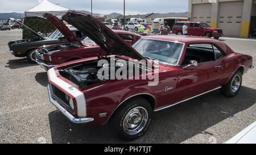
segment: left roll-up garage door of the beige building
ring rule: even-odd
[[[192,21],[207,22],[210,24],[210,11],[212,10],[211,3],[194,4],[192,6]]]

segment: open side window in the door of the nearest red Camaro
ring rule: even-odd
[[[198,63],[215,61],[212,44],[188,45],[182,65],[188,65],[191,60],[196,60]]]

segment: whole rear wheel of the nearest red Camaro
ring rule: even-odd
[[[220,89],[221,94],[227,97],[234,97],[238,94],[242,86],[242,73],[240,70],[237,70],[236,73],[229,79],[226,85],[222,86]]]

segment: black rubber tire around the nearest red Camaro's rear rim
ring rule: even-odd
[[[234,91],[234,89],[232,89],[232,86],[234,85],[234,80],[235,80],[234,78],[237,78],[237,77],[240,78],[240,84],[239,84],[238,89],[236,89],[236,91]],[[220,89],[221,94],[225,95],[226,97],[235,97],[241,89],[242,79],[243,79],[243,76],[242,76],[241,71],[237,70],[237,72],[234,73],[234,75],[229,79],[228,83],[226,83],[224,86],[221,87],[221,89]]]

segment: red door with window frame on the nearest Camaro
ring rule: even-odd
[[[191,44],[185,51],[183,62],[178,71],[178,99],[184,100],[220,86],[222,68],[216,60],[212,44]],[[197,66],[189,66],[196,60]]]

